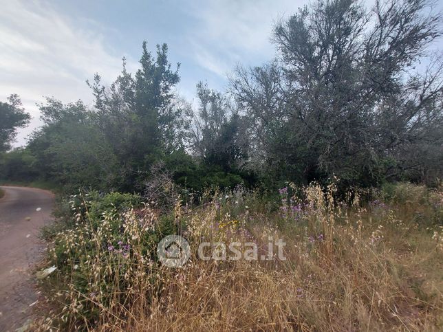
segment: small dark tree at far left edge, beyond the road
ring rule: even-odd
[[[30,118],[17,94],[9,96],[8,102],[0,102],[0,153],[11,148],[10,144],[17,136],[17,128],[26,126]]]

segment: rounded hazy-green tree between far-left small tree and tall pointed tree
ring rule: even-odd
[[[40,111],[44,124],[28,145],[39,177],[71,192],[81,187],[119,188],[116,156],[83,102],[63,104],[47,98]]]

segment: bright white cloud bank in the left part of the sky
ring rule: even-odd
[[[0,100],[18,93],[32,115],[30,126],[19,133],[19,146],[40,124],[36,102],[43,96],[90,102],[85,80],[98,72],[109,82],[123,56],[105,45],[98,23],[72,21],[44,1],[2,1],[0,49]]]

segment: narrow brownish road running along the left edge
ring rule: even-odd
[[[42,225],[51,221],[54,195],[36,188],[1,187],[0,199],[0,331],[14,331],[31,318],[37,300],[30,270],[45,245]]]

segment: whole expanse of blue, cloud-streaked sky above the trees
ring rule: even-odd
[[[122,68],[135,72],[142,41],[155,51],[169,46],[180,63],[177,92],[189,101],[207,81],[224,90],[236,65],[272,60],[276,21],[307,0],[0,0],[0,100],[21,96],[32,115],[14,146],[41,125],[37,103],[45,96],[92,104],[85,81],[95,73],[113,81]],[[441,5],[441,3],[440,3]]]

